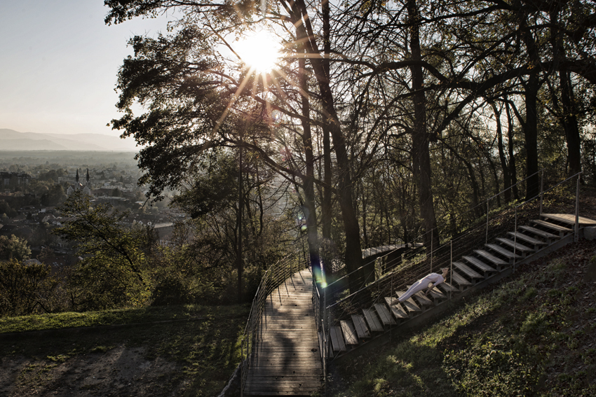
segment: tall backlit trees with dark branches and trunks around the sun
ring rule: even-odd
[[[145,145],[150,194],[180,188],[216,149],[243,148],[297,188],[311,261],[320,240],[337,244],[351,288],[372,277],[363,240],[421,231],[436,246],[440,220],[521,176],[533,197],[543,165],[581,170],[596,83],[591,1],[104,4],[108,24],[180,15],[167,34],[131,39],[118,73],[123,116],[112,125]],[[266,73],[234,50],[255,30],[283,45]],[[210,191],[196,190],[197,202]]]

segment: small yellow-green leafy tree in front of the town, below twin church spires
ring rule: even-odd
[[[147,252],[151,230],[121,225],[128,213],[109,204],[91,207],[89,197],[74,193],[61,207],[72,218],[54,230],[76,244],[81,260],[68,274],[75,309],[107,309],[144,305],[149,298]]]

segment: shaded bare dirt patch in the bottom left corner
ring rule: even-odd
[[[144,353],[122,344],[71,358],[3,357],[0,396],[177,396],[180,364]]]

